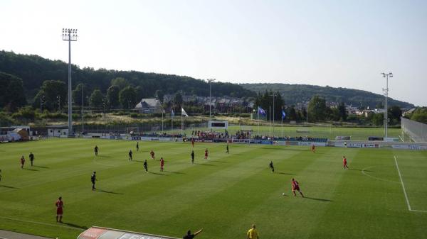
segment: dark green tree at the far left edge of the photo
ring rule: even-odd
[[[0,72],[0,108],[14,111],[26,104],[22,79]]]

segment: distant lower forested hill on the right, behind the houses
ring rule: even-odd
[[[310,101],[312,96],[319,95],[328,102],[344,102],[352,106],[369,106],[374,108],[384,105],[384,96],[359,89],[320,87],[307,84],[240,84],[242,87],[263,93],[265,90],[279,91],[285,104],[296,104],[298,102]],[[397,101],[389,98],[389,106],[400,106],[401,108],[413,108],[413,104]]]

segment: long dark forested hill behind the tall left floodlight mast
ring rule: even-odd
[[[23,80],[26,98],[31,101],[45,80],[68,82],[68,65],[59,60],[48,60],[38,55],[21,55],[14,52],[0,51],[0,72],[11,74]],[[201,79],[181,77],[173,74],[156,74],[136,71],[94,70],[73,65],[73,89],[80,83],[89,91],[100,89],[105,92],[112,79],[123,77],[137,87],[139,98],[153,97],[157,90],[163,94],[184,94],[209,96],[209,84]],[[212,91],[215,96],[255,96],[253,91],[244,89],[238,84],[214,82]],[[18,93],[18,92],[16,92]]]

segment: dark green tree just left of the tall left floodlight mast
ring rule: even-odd
[[[43,109],[53,111],[54,109],[61,108],[67,103],[67,84],[59,80],[46,80],[40,87],[40,90],[34,97],[34,108],[41,105]]]

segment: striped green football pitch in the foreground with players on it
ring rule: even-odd
[[[61,239],[76,238],[90,226],[176,238],[204,228],[197,238],[237,239],[246,238],[256,223],[260,238],[270,239],[427,238],[427,152],[318,147],[312,153],[297,146],[231,145],[227,155],[224,144],[196,143],[191,165],[189,143],[142,142],[129,162],[127,152],[135,144],[0,144],[0,228]],[[209,160],[203,159],[205,148]],[[151,149],[165,158],[165,172],[151,159],[149,173],[143,171]],[[30,151],[36,155],[33,167]],[[349,170],[342,169],[343,155]],[[93,171],[97,191],[91,191]],[[292,177],[306,198],[292,196]],[[65,205],[62,224],[55,221],[58,196]]]

